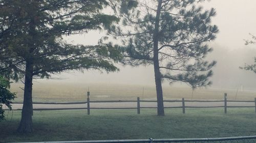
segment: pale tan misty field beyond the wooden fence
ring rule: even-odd
[[[17,93],[15,101],[23,100],[23,84],[12,84],[11,90]],[[55,82],[34,82],[33,101],[44,102],[69,102],[84,101],[86,93],[90,88],[91,100],[128,100],[137,97],[140,99],[156,99],[154,86],[125,85],[125,84],[78,84],[78,83],[55,83]],[[143,90],[144,89],[144,90]],[[224,93],[228,99],[254,100],[256,91],[241,91],[228,89],[197,89],[192,96],[192,90],[184,87],[163,87],[164,99],[223,99]]]

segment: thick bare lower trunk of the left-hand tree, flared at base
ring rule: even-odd
[[[17,129],[17,131],[20,133],[31,133],[33,131],[32,77],[33,77],[32,63],[27,62],[26,73],[25,73],[25,89],[24,89],[24,101],[23,101],[23,108],[22,108],[22,120],[20,121],[19,127]]]

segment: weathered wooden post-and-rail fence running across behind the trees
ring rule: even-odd
[[[34,108],[33,110],[67,110],[67,109],[87,109],[88,115],[90,115],[90,110],[91,109],[137,109],[137,113],[140,114],[140,109],[141,108],[157,108],[157,107],[141,107],[142,102],[157,102],[156,100],[140,100],[139,97],[137,97],[137,100],[109,100],[109,101],[90,101],[89,98],[90,92],[88,92],[88,98],[86,102],[33,102],[33,104],[51,104],[51,105],[56,105],[56,104],[63,104],[63,105],[68,105],[68,104],[87,104],[87,107],[77,107],[77,108]],[[90,107],[90,103],[120,103],[120,102],[137,102],[137,107]],[[224,113],[227,113],[227,108],[255,108],[256,112],[256,98],[254,98],[254,101],[252,100],[227,100],[227,94],[224,94],[224,100],[185,100],[182,98],[181,100],[164,100],[163,102],[181,102],[182,106],[173,106],[173,107],[164,107],[164,108],[182,108],[182,113],[185,113],[186,108],[224,108]],[[186,106],[186,102],[223,102],[223,106]],[[253,106],[228,106],[227,102],[253,102]],[[22,102],[13,102],[12,104],[23,104]],[[13,110],[21,110],[21,109],[13,109]]]

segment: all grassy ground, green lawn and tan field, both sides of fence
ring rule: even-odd
[[[23,84],[12,84],[17,93],[15,101],[23,100]],[[122,84],[47,83],[33,84],[33,101],[72,102],[85,101],[90,88],[91,100],[136,100],[137,97],[155,100],[154,86]],[[143,90],[144,89],[144,90]],[[164,99],[223,99],[254,100],[255,91],[227,89],[197,89],[163,87]],[[0,122],[0,142],[60,141],[141,138],[195,138],[256,135],[254,108],[165,109],[165,117],[157,117],[156,109],[136,110],[61,110],[34,111],[34,133],[19,134],[16,128],[21,112],[6,112],[7,120]]]

